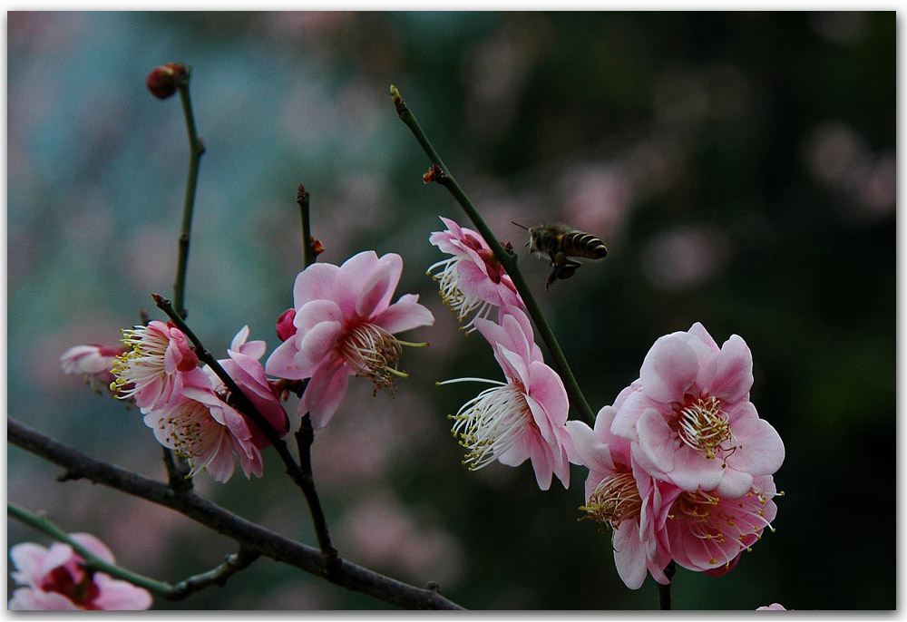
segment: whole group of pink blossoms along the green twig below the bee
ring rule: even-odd
[[[506,382],[455,414],[453,433],[479,469],[497,460],[532,459],[541,490],[556,474],[569,486],[568,462],[589,469],[585,518],[613,530],[620,578],[639,588],[647,572],[667,584],[671,560],[723,574],[771,529],[777,494],[772,475],[784,444],[749,401],[753,360],[742,338],[722,346],[700,325],[658,339],[639,379],[594,427],[567,421],[561,378],[542,360],[512,282],[476,232],[443,219],[430,241],[453,257],[442,268],[441,294],[458,317],[492,345]],[[498,322],[487,319],[498,308]],[[463,378],[441,384],[480,380]]]

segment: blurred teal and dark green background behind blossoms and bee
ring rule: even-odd
[[[500,377],[425,269],[439,215],[428,160],[397,120],[395,83],[495,233],[521,253],[595,410],[654,340],[702,322],[753,351],[752,400],[785,441],[775,533],[725,577],[679,569],[678,608],[895,607],[895,15],[888,13],[23,13],[7,15],[7,407],[84,452],[164,477],[141,414],[63,375],[71,345],[112,344],[170,294],[188,148],[177,97],[144,85],[192,67],[201,161],[186,305],[223,356],[249,325],[278,345],[302,264],[298,210],[339,264],[405,261],[432,327],[407,334],[391,398],[351,383],[317,433],[315,474],[341,554],[441,584],[464,607],[652,609],[571,489],[532,468],[469,472],[448,413]],[[562,220],[608,258],[544,291],[549,269],[510,224]],[[295,403],[288,404],[295,413]],[[572,413],[571,416],[577,416]],[[198,491],[310,544],[301,494],[265,477]],[[106,541],[122,565],[177,581],[233,544],[190,520],[8,450],[10,501]],[[849,514],[853,510],[854,514]],[[857,511],[859,510],[859,511]],[[866,510],[863,512],[863,510]],[[868,530],[868,531],[865,531]],[[8,544],[47,540],[14,521]],[[258,560],[180,603],[387,608]]]

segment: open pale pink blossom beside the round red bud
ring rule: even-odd
[[[403,272],[395,253],[378,258],[368,250],[340,267],[317,263],[296,277],[293,302],[297,332],[271,353],[265,364],[270,375],[310,378],[299,401],[299,414],[310,413],[312,425],[327,425],[346,394],[351,375],[363,375],[381,387],[394,388],[404,345],[394,334],[430,326],[434,316],[406,294],[393,305],[391,296]]]

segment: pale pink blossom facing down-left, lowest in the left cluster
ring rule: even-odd
[[[190,477],[207,470],[215,481],[233,476],[233,454],[246,477],[261,477],[261,452],[245,418],[220,399],[200,368],[183,372],[171,399],[145,414],[145,425],[168,447],[189,459]]]

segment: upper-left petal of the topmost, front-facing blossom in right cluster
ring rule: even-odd
[[[658,337],[649,350],[639,381],[649,399],[660,403],[682,402],[696,382],[699,365],[696,352],[678,333]]]

